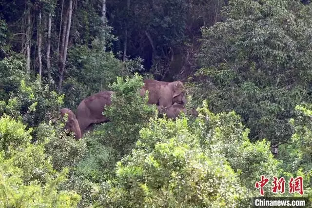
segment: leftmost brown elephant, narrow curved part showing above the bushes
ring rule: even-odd
[[[80,131],[80,126],[79,126],[78,120],[77,120],[75,114],[73,113],[73,111],[71,111],[68,108],[63,108],[60,110],[59,113],[60,113],[62,118],[65,116],[65,114],[68,115],[67,122],[66,122],[66,125],[64,128],[69,130],[69,131],[73,131],[75,133],[76,140],[80,139],[82,136],[81,131]]]

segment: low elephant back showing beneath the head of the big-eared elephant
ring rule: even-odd
[[[176,117],[179,116],[179,114],[183,111],[184,114],[191,114],[193,116],[197,116],[198,113],[195,109],[192,110],[187,110],[184,105],[182,104],[173,104],[169,107],[165,107],[163,105],[159,105],[158,107],[158,113],[159,114],[166,114],[167,118],[173,118],[175,119]]]

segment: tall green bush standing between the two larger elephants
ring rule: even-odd
[[[148,96],[140,96],[143,85],[142,77],[138,74],[132,78],[117,77],[117,82],[111,85],[115,93],[112,104],[104,113],[111,121],[105,126],[107,138],[111,140],[106,142],[117,148],[121,155],[131,151],[137,142],[139,130],[148,123],[150,117],[157,115],[156,107],[147,105]]]

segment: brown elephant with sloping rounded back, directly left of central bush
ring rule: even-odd
[[[102,91],[85,98],[77,107],[77,120],[80,126],[81,135],[90,129],[93,124],[108,122],[108,118],[103,116],[105,105],[111,105],[113,91]]]

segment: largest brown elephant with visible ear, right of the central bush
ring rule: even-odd
[[[157,80],[144,80],[144,86],[140,89],[140,96],[149,91],[148,104],[163,105],[169,107],[174,103],[186,104],[186,91],[183,83],[161,82]]]

